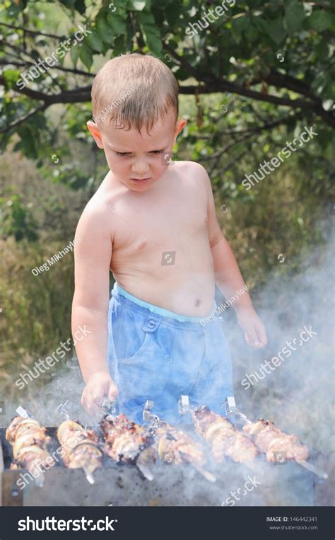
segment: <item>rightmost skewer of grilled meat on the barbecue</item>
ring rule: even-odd
[[[277,461],[276,452],[287,460],[305,461],[308,459],[308,449],[296,435],[288,435],[281,431],[271,420],[245,425],[247,433],[261,452],[266,454],[266,461]]]

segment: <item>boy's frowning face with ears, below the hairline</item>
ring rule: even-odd
[[[139,133],[136,128],[119,129],[112,122],[101,126],[90,120],[87,125],[98,147],[104,149],[115,178],[129,190],[141,192],[165,173],[177,134],[185,124],[186,120],[175,122],[175,113],[170,110],[150,134],[145,127]]]

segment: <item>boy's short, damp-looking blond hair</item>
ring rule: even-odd
[[[113,120],[118,127],[143,126],[150,132],[170,108],[178,115],[178,84],[172,71],[149,54],[122,54],[98,71],[92,86],[96,123]]]

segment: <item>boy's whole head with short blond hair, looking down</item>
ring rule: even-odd
[[[165,173],[186,123],[177,120],[178,85],[172,71],[149,55],[116,57],[95,76],[92,108],[95,121],[88,122],[88,129],[114,176],[131,190],[148,189]]]

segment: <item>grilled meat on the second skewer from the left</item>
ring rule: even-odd
[[[102,452],[98,436],[92,430],[85,430],[74,420],[65,420],[59,425],[57,438],[63,450],[63,461],[69,469],[83,468],[90,474],[102,463]]]

